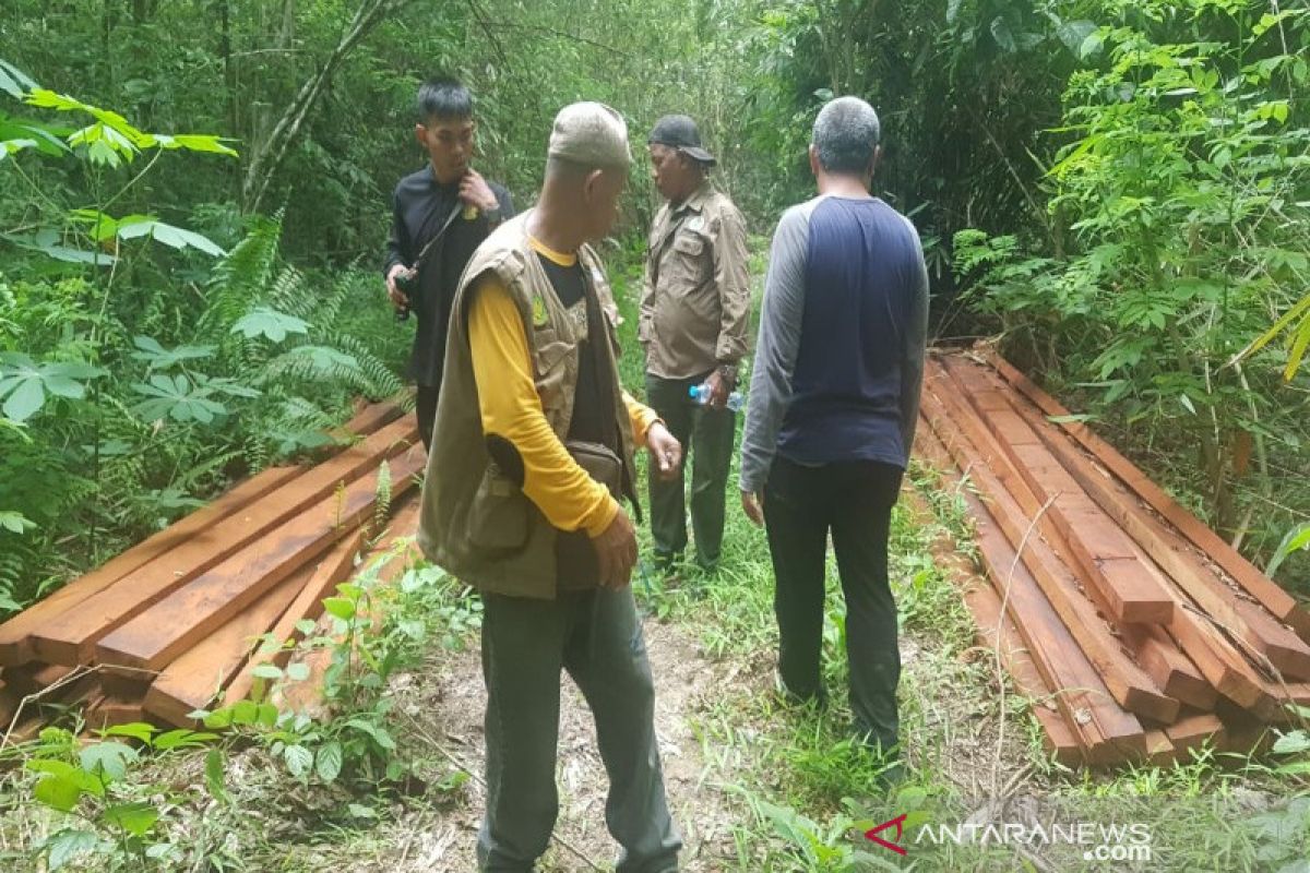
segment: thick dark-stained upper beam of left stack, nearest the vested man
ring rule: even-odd
[[[414,476],[426,462],[422,448],[393,458],[392,495],[400,496],[411,488]],[[379,472],[352,482],[345,495],[329,495],[178,588],[106,635],[96,648],[97,660],[141,670],[162,670],[265,592],[364,524],[376,509],[379,482]]]

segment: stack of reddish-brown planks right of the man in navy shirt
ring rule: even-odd
[[[979,640],[1064,763],[1246,753],[1310,705],[1310,613],[989,347],[930,355],[916,453],[975,522]]]

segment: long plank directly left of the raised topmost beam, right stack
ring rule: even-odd
[[[982,453],[993,446],[977,446],[968,442],[965,433],[971,428],[968,423],[962,420],[968,416],[968,410],[956,407],[956,414],[950,416],[937,397],[935,386],[924,393],[921,408],[938,433],[948,431],[952,424],[956,425],[950,440],[945,441],[947,449],[960,469],[969,470],[969,475],[988,500],[992,518],[1010,544],[1015,550],[1022,544],[1022,560],[1040,588],[1041,596],[1060,616],[1060,622],[1068,632],[1077,640],[1115,700],[1129,712],[1159,722],[1167,724],[1176,719],[1180,708],[1179,702],[1161,694],[1154,681],[1124,654],[1119,640],[1096,614],[1096,609],[1078,592],[1078,580],[1073,573],[1060,563],[1040,537],[1026,537],[1028,520],[1038,510],[1036,496],[1026,495],[1024,503],[1028,504],[1030,509],[1024,512],[1019,508],[1015,496],[992,475],[992,469],[1006,463],[1006,459],[1000,453],[994,453],[990,458],[993,467],[989,467],[982,459]],[[976,432],[981,437],[986,436],[981,429]],[[1022,487],[1018,483],[1015,486]]]

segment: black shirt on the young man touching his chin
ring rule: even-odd
[[[510,192],[495,182],[487,182],[500,203],[500,217],[514,216]],[[452,211],[458,215],[440,241],[424,258],[418,274],[418,292],[410,300],[417,322],[414,352],[410,356],[410,374],[426,387],[441,383],[441,365],[445,360],[445,338],[451,321],[451,304],[460,284],[460,275],[482,241],[491,232],[491,224],[481,212],[465,209],[460,200],[460,186],[440,185],[431,166],[410,173],[392,199],[392,236],[386,243],[383,275],[401,263],[414,266],[423,246],[445,225]]]

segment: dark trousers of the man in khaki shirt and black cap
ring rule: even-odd
[[[702,567],[713,568],[723,550],[723,501],[736,420],[728,410],[701,406],[688,397],[688,389],[703,381],[705,376],[665,380],[647,373],[646,402],[683,444],[684,469],[688,461],[692,463],[696,559]],[[655,465],[650,466],[651,538],[656,560],[672,561],[686,548],[685,488],[681,472],[677,479],[664,482]]]

